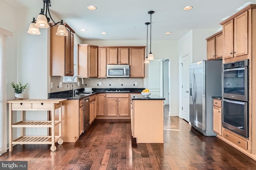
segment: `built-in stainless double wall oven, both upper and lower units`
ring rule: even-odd
[[[222,64],[222,126],[248,138],[248,60]]]

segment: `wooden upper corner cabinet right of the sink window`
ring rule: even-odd
[[[98,46],[78,44],[78,75],[83,78],[97,78]]]

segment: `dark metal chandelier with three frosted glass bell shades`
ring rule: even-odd
[[[43,0],[44,2],[44,9],[41,9],[40,14],[37,16],[36,20],[33,18],[33,21],[30,23],[27,33],[33,34],[33,35],[39,35],[39,29],[37,28],[48,28],[48,27],[54,27],[55,25],[59,24],[56,35],[59,36],[67,36],[66,27],[63,24],[63,20],[55,23],[54,20],[51,17],[49,6],[51,6],[51,0]],[[45,12],[45,14],[44,14]],[[47,16],[49,15],[49,17]],[[54,24],[49,24],[50,19],[54,22]]]

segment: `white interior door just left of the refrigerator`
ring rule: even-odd
[[[189,55],[182,57],[182,118],[189,121]]]

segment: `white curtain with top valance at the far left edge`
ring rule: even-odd
[[[0,154],[7,151],[6,145],[6,37],[12,33],[0,28]]]

